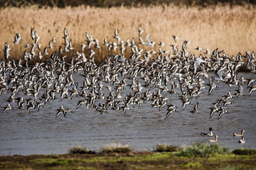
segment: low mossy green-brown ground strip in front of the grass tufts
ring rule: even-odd
[[[256,154],[178,157],[174,152],[0,156],[0,169],[255,169]]]

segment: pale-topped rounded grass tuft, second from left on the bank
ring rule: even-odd
[[[112,142],[110,145],[105,145],[100,149],[100,153],[109,154],[109,153],[130,153],[132,152],[132,147],[129,144],[115,143]]]

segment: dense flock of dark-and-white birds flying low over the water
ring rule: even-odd
[[[181,48],[176,45],[178,35],[173,36],[171,50],[162,50],[169,45],[161,41],[152,42],[150,34],[144,42],[144,30],[139,27],[138,32],[138,42],[134,38],[131,42],[122,40],[118,30],[115,30],[112,41],[106,37],[103,43],[85,33],[85,43],[80,44],[81,49],[74,52],[72,39],[65,28],[63,45],[57,47],[58,50],[53,47],[56,43],[54,37],[47,47],[42,48],[40,36],[31,28],[33,43],[24,46],[26,50],[18,60],[9,58],[11,48],[6,43],[4,60],[0,62],[0,96],[3,93],[11,95],[3,113],[13,109],[15,103],[16,108],[31,113],[39,111],[50,101],[79,98],[76,109],[95,108],[100,114],[107,113],[109,109],[127,113],[131,106],[139,108],[142,103],[150,102],[151,108],[158,108],[159,111],[166,109],[164,119],[168,119],[178,108],[171,103],[167,94],[178,96],[184,110],[192,100],[198,100],[203,89],[208,89],[210,95],[218,86],[216,81],[221,81],[238,89],[235,90],[236,94],[229,91],[213,103],[210,118],[218,113],[220,119],[228,113],[226,108],[232,104],[231,98],[245,95],[245,84],[249,89],[248,96],[256,89],[253,85],[255,79],[238,77],[240,68],[255,72],[254,52],[246,52],[245,55],[239,52],[237,56],[229,57],[218,48],[213,52],[208,49],[203,52],[204,49],[196,47],[201,54],[195,57],[187,50],[191,41],[184,40]],[[17,33],[13,43],[21,45],[21,39],[21,33]],[[103,47],[107,47],[109,53],[104,62],[97,64],[95,51]],[[74,52],[70,60],[67,55],[69,51]],[[124,51],[130,51],[130,55],[124,56]],[[209,72],[215,72],[215,76],[210,76]],[[73,74],[82,77],[82,85],[78,86]],[[180,91],[177,92],[177,89]],[[129,94],[124,91],[129,91]],[[65,116],[69,112],[72,111],[60,106],[55,117]],[[197,102],[191,108],[191,113],[198,112]],[[217,142],[217,137],[209,142]]]

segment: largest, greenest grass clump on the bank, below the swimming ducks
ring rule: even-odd
[[[227,147],[220,147],[218,144],[208,145],[205,142],[196,142],[190,147],[186,147],[177,154],[178,157],[210,157],[215,154],[228,154]]]

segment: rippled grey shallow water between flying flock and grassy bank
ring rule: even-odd
[[[245,78],[256,77],[251,73],[239,73],[238,77],[240,78],[241,75]],[[127,81],[127,84],[129,83],[130,81]],[[69,147],[77,145],[98,151],[113,141],[129,143],[137,151],[146,151],[152,150],[157,142],[169,145],[207,142],[214,137],[202,137],[200,133],[208,132],[209,127],[213,128],[213,135],[219,136],[220,146],[229,147],[231,150],[238,147],[256,149],[256,92],[248,96],[249,89],[245,84],[244,95],[230,98],[233,104],[226,107],[229,113],[218,120],[218,113],[215,113],[213,118],[209,118],[212,103],[228,94],[230,90],[234,96],[238,87],[229,87],[220,82],[219,88],[210,95],[207,95],[208,86],[206,87],[207,89],[203,89],[204,94],[197,99],[193,98],[184,111],[178,99],[178,95],[181,94],[178,88],[176,88],[178,94],[164,93],[163,96],[169,98],[168,103],[178,107],[167,120],[164,120],[166,108],[161,111],[158,108],[151,108],[151,101],[142,103],[140,108],[130,106],[131,110],[125,114],[123,111],[109,109],[108,113],[102,115],[95,111],[95,108],[87,110],[85,106],[76,110],[75,106],[82,97],[60,101],[58,96],[55,101],[46,103],[39,112],[31,111],[30,115],[27,111],[16,108],[16,103],[13,103],[15,107],[12,111],[0,114],[0,154],[64,154],[68,152]],[[151,89],[151,93],[153,91],[154,89]],[[107,88],[105,92],[110,93]],[[131,90],[127,87],[122,96],[129,92]],[[0,96],[0,112],[4,110],[9,96],[10,94],[7,93]],[[190,113],[197,101],[199,101],[199,113]],[[56,109],[62,104],[65,108],[70,108],[73,113],[67,113],[66,117],[60,115],[55,118]],[[238,143],[240,137],[233,137],[233,132],[240,133],[241,130],[245,130],[246,141],[242,145]]]

